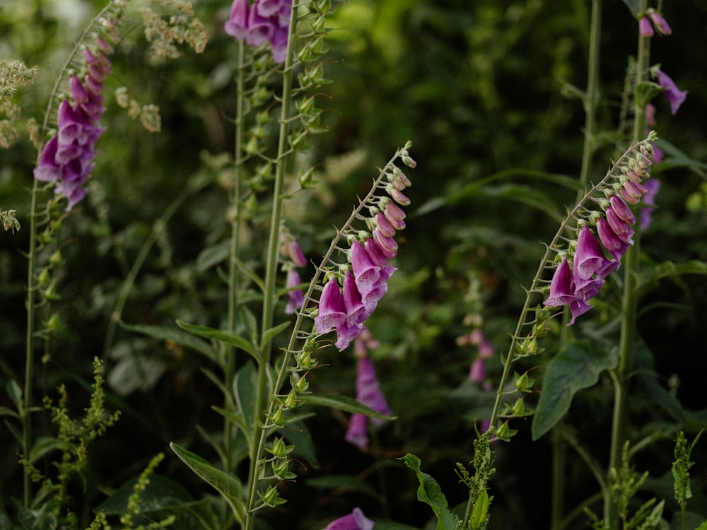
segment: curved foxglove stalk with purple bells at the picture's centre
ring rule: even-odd
[[[397,204],[409,204],[409,199],[402,194],[402,190],[409,186],[410,181],[399,170],[396,162],[401,160],[409,167],[416,165],[407,151],[409,145],[408,143],[404,148],[399,149],[383,167],[366,197],[354,208],[344,227],[337,230],[337,235],[334,236],[329,250],[310,281],[303,304],[296,312],[296,321],[288,347],[284,350],[274,384],[271,386],[266,419],[260,427],[255,452],[257,460],[255,478],[251,478],[251,489],[248,495],[246,528],[250,528],[249,524],[252,525],[252,514],[255,510],[265,505],[276,506],[285,502],[279,497],[277,481],[291,480],[296,477],[289,469],[287,455],[291,451],[291,446],[284,446],[281,440],[275,440],[271,447],[266,449],[266,440],[272,432],[284,427],[291,420],[292,409],[306,400],[308,394],[306,376],[309,370],[317,367],[317,360],[312,357],[312,354],[319,347],[317,343],[320,336],[337,329],[337,347],[344,349],[363,332],[363,322],[385,294],[385,281],[392,273],[392,267],[387,264],[387,260],[395,257],[397,244],[392,235],[386,235],[390,234],[390,230],[387,229],[387,225],[383,226],[385,221],[382,218],[385,218],[387,212],[388,221],[391,225],[397,226],[396,230],[404,228],[404,213]],[[394,204],[394,198],[397,204]],[[368,217],[363,216],[363,211],[368,211]],[[378,214],[382,214],[382,217],[378,217]],[[373,233],[356,230],[354,223],[357,220],[365,221],[367,228]],[[351,249],[339,247],[342,238],[351,241]],[[361,247],[359,248],[358,245]],[[368,252],[366,245],[369,250],[375,250]],[[354,248],[357,250],[353,250]],[[335,252],[344,256],[346,262],[340,264],[334,261],[332,256]],[[375,257],[375,261],[372,261],[372,256]],[[354,261],[356,261],[355,265]],[[322,276],[326,278],[323,288],[320,285]],[[337,278],[341,278],[345,284],[343,288],[345,295]],[[320,300],[314,298],[315,290],[321,290]],[[302,329],[303,321],[310,318],[315,319],[315,329],[305,331]],[[283,391],[287,376],[290,383],[289,389]],[[288,447],[290,449],[286,450]],[[271,456],[264,457],[265,451]],[[270,471],[267,469],[268,464]],[[264,490],[259,488],[260,483],[273,481],[276,481],[275,485],[268,485]]]

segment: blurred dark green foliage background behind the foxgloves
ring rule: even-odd
[[[0,5],[0,59],[40,66],[37,81],[16,95],[22,119],[42,119],[66,54],[82,25],[101,7],[100,1],[80,0]],[[106,94],[127,86],[132,98],[159,105],[163,130],[144,131],[106,98],[107,131],[98,142],[90,194],[66,220],[62,234],[62,301],[56,308],[64,326],[52,339],[37,394],[52,394],[59,382],[68,381],[80,410],[93,356],[108,355],[108,381],[114,382],[108,399],[123,416],[95,442],[88,493],[77,485],[77,499],[86,495],[93,506],[105,499],[98,485],[119,488],[170,441],[203,445],[197,424],[205,430],[219,427],[210,408],[218,405],[219,394],[199,371],[203,360],[198,354],[122,329],[110,353],[104,349],[127,271],[153,223],[185,187],[200,189],[168,220],[123,318],[129,324],[165,326],[173,326],[175,319],[218,326],[224,318],[223,283],[214,267],[204,265],[201,253],[228,232],[228,159],[223,157],[233,146],[236,47],[221,30],[230,2],[199,0],[194,7],[209,32],[209,44],[198,55],[185,48],[173,61],[151,61],[139,20],[127,22]],[[297,194],[288,204],[289,224],[315,259],[332,235],[321,227],[341,223],[356,194],[368,188],[372,170],[404,141],[413,141],[411,154],[419,165],[409,172],[412,213],[396,259],[399,271],[370,320],[382,343],[375,353],[378,375],[399,420],[378,432],[378,449],[362,453],[343,440],[346,418],[327,411],[313,418],[309,430],[318,465],[310,462],[300,482],[284,493],[290,502],[270,515],[275,528],[282,528],[283,521],[292,529],[323,527],[356,505],[369,517],[421,526],[429,514],[415,501],[414,476],[393,464],[406,452],[421,456],[425,471],[448,492],[450,505],[463,500],[452,464],[470,458],[473,422],[483,418],[479,403],[484,395],[464,387],[475,352],[457,346],[455,339],[469,331],[464,316],[480,311],[484,333],[497,351],[504,351],[525,296],[522,286],[530,282],[543,252],[540,242],[549,240],[556,216],[573,201],[572,190],[538,175],[578,175],[584,117],[572,92],[573,87],[583,90],[586,82],[589,10],[585,0],[349,0],[338,6],[330,20],[325,63],[332,83],[318,98],[329,130],[312,141],[309,160],[317,165],[320,187]],[[681,162],[683,155],[694,160],[707,155],[707,3],[666,1],[664,13],[674,33],[653,38],[652,59],[689,96],[676,116],[670,115],[667,102],[658,101],[658,133],[682,154],[655,168],[662,188],[653,225],[642,241],[646,265],[707,259],[706,168],[691,170]],[[605,134],[592,168],[595,180],[616,154],[626,58],[636,41],[636,22],[624,3],[605,1],[604,21],[599,118]],[[670,145],[659,145],[671,152]],[[25,139],[0,158],[0,206],[15,208],[27,228],[35,157]],[[494,176],[484,187],[475,185]],[[260,235],[247,237],[255,241]],[[14,236],[0,235],[2,387],[10,379],[21,381],[26,249],[25,228]],[[691,411],[703,411],[706,284],[701,276],[684,276],[651,287],[639,319],[653,352],[646,366],[654,363],[662,387],[677,375],[679,400]],[[590,313],[598,323],[607,323],[618,293],[613,285],[600,295]],[[353,355],[332,348],[320,357],[329,367],[317,370],[317,389],[353,395]],[[115,378],[117,367],[124,370],[124,379],[111,379],[110,370]],[[569,416],[597,458],[607,448],[608,399],[601,391],[583,395]],[[637,430],[643,420],[674,420],[667,407],[656,412],[650,389],[638,390],[635,408]],[[517,427],[522,433],[512,444],[496,447],[491,527],[547,528],[549,444],[546,439],[531,444],[529,425]],[[3,494],[18,495],[20,469],[7,430],[1,431],[0,444],[0,483],[8,488]],[[638,464],[660,478],[670,470],[670,447],[670,438],[658,442],[638,457]],[[695,469],[706,469],[706,459],[694,457]],[[159,472],[194,498],[205,493],[174,457]],[[568,473],[573,485],[569,500],[579,502],[593,493],[582,466]],[[339,476],[334,483],[354,488],[345,495],[320,488],[332,484],[330,474]],[[664,483],[656,479],[653,487],[661,491]],[[455,488],[458,498],[450,493]],[[694,488],[696,496],[701,492],[702,483]]]

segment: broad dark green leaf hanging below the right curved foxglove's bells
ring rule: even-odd
[[[547,366],[532,422],[532,439],[553,428],[569,410],[574,395],[596,384],[601,372],[616,365],[615,350],[604,351],[590,341],[571,342],[563,348]]]

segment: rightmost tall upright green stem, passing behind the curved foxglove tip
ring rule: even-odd
[[[639,11],[648,7],[647,0],[641,0]],[[636,59],[636,84],[645,81],[648,76],[650,47],[648,38],[638,36],[638,57]],[[633,141],[645,135],[645,108],[641,102],[634,102]],[[636,226],[640,226],[640,215]],[[624,301],[621,307],[621,338],[619,339],[619,364],[613,373],[614,413],[612,416],[612,440],[609,454],[609,485],[612,485],[611,470],[619,469],[623,462],[622,452],[626,440],[626,427],[629,422],[629,382],[633,344],[636,342],[636,310],[638,306],[638,254],[640,252],[640,232],[633,235],[633,246],[624,254]],[[617,505],[609,487],[608,502],[604,502],[604,522],[607,529],[616,529],[619,524]]]

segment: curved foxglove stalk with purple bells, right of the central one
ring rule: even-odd
[[[491,413],[491,430],[495,437],[509,440],[515,435],[515,430],[510,429],[508,420],[532,413],[523,405],[522,396],[513,404],[506,403],[503,410],[501,404],[508,394],[504,389],[513,363],[542,351],[537,339],[546,331],[547,320],[552,317],[549,308],[567,305],[572,313],[572,324],[577,317],[590,310],[589,301],[600,292],[606,278],[619,269],[621,257],[632,245],[631,226],[636,218],[629,204],[638,204],[646,192],[641,182],[648,178],[648,168],[653,162],[651,142],[655,138],[651,132],[647,139],[634,144],[621,155],[607,175],[568,213],[547,246],[527,291],[525,305],[503,365],[499,391]],[[590,209],[592,206],[595,209]],[[543,279],[546,269],[554,269],[551,281]],[[531,307],[537,295],[545,298],[544,307]],[[530,312],[534,314],[532,319],[529,319]],[[530,391],[532,383],[527,374],[516,375],[513,391],[525,394]]]

